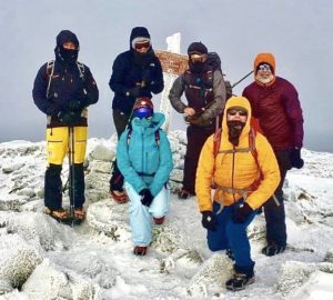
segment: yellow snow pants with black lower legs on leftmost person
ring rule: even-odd
[[[75,208],[84,203],[83,161],[87,147],[87,127],[74,127],[74,199]],[[69,128],[57,127],[47,130],[48,168],[44,178],[44,206],[51,210],[62,207],[62,162],[69,151]]]

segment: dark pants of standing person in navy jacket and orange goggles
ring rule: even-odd
[[[127,129],[131,113],[124,113],[120,110],[113,110],[113,122],[117,131],[118,139],[121,133]],[[113,161],[113,171],[110,179],[110,190],[122,190],[123,176],[121,174],[117,160]]]

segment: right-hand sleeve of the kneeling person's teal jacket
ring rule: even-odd
[[[159,149],[160,149],[160,166],[149,187],[152,196],[157,196],[162,190],[163,186],[168,182],[170,173],[173,168],[170,142],[162,130],[160,130]]]

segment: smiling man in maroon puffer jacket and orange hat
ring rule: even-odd
[[[283,182],[287,170],[302,168],[303,116],[296,89],[287,80],[275,76],[275,58],[260,53],[254,60],[255,81],[243,96],[251,103],[263,134],[276,156],[281,181],[273,197],[264,204],[266,246],[262,252],[269,257],[279,254],[286,247]]]

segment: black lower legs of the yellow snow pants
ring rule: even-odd
[[[61,164],[50,164],[44,179],[44,206],[51,210],[62,208]],[[84,170],[83,163],[74,164],[74,207],[81,208],[84,203]],[[71,188],[71,187],[70,187]]]

